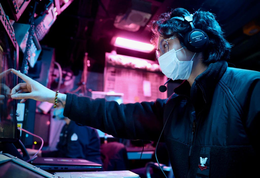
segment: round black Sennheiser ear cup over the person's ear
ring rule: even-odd
[[[190,51],[199,53],[209,45],[209,37],[203,30],[194,29],[185,34],[184,44]]]

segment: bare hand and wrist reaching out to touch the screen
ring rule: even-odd
[[[12,69],[12,73],[16,74],[25,82],[25,83],[18,83],[11,90],[11,97],[13,99],[21,99],[21,103],[25,102],[26,99],[34,99],[36,101],[54,103],[55,94],[56,94],[55,91],[52,91],[44,87],[39,82],[31,79],[30,77],[22,74],[21,72],[15,69]],[[62,93],[58,94],[57,106],[62,106],[63,108],[65,107],[66,96],[67,96],[66,94],[62,94]]]

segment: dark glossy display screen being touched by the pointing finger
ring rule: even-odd
[[[17,100],[11,98],[11,89],[17,84],[17,47],[12,43],[3,24],[0,24],[0,141],[17,140]]]

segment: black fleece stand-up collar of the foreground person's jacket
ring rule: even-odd
[[[228,67],[226,61],[211,63],[209,67],[198,75],[190,87],[187,80],[174,89],[178,95],[191,99],[196,115],[206,107],[210,107],[215,87]]]

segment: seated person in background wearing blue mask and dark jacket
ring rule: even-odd
[[[103,164],[100,153],[100,138],[97,130],[76,124],[73,120],[63,116],[62,107],[57,107],[53,112],[53,117],[64,120],[60,139],[57,143],[57,150],[40,150],[37,156],[40,157],[59,157],[59,158],[82,158]],[[38,150],[26,148],[29,155],[34,155]]]

